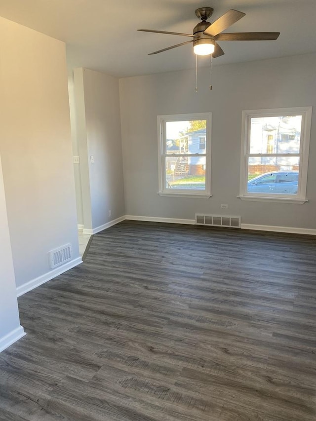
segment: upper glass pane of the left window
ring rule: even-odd
[[[205,153],[206,120],[167,121],[166,153]]]

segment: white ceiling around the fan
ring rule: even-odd
[[[189,38],[136,30],[192,33],[203,6],[214,8],[210,22],[232,8],[246,13],[225,32],[281,33],[276,41],[221,41],[225,55],[214,65],[316,51],[316,0],[0,0],[0,16],[65,41],[69,71],[126,77],[194,68],[190,44],[148,55]]]

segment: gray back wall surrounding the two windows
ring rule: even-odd
[[[119,81],[127,215],[194,219],[196,212],[240,215],[244,224],[316,228],[316,54]],[[314,106],[304,205],[241,201],[241,112]],[[212,194],[209,199],[160,197],[157,115],[212,112]],[[220,204],[229,204],[221,210]]]

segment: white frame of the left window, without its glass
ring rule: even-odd
[[[166,122],[169,121],[192,121],[206,120],[205,133],[205,153],[185,154],[185,156],[205,156],[205,190],[183,190],[183,189],[166,189],[165,180],[165,156],[166,156]],[[195,114],[171,114],[157,116],[158,129],[158,194],[160,196],[177,196],[177,197],[199,197],[209,198],[211,196],[211,129],[212,114],[211,113],[195,113]],[[172,153],[168,156],[183,156],[183,154]]]

